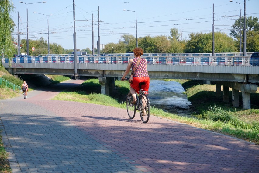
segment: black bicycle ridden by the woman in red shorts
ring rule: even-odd
[[[125,80],[125,79],[124,79]],[[128,80],[126,78],[126,80]],[[140,88],[141,88],[142,83],[140,83]],[[130,119],[133,119],[136,115],[136,110],[140,112],[140,118],[143,123],[147,123],[150,117],[150,101],[148,98],[149,92],[144,91],[143,89],[140,89],[139,91],[139,96],[136,93],[137,97],[137,102],[135,104],[132,104],[131,102],[133,101],[133,96],[131,92],[127,94],[127,99],[126,99],[126,104],[127,104],[127,112],[130,117]],[[145,107],[143,106],[143,102],[145,102],[146,105]],[[146,112],[146,114],[144,114]]]

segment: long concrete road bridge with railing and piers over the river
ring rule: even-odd
[[[132,57],[132,54],[78,56],[74,64],[73,55],[47,55],[2,59],[2,63],[12,74],[72,76],[76,68],[79,76],[98,77],[101,93],[109,95],[115,87],[115,78],[122,77]],[[250,109],[250,93],[255,93],[259,84],[259,66],[255,66],[259,60],[251,62],[247,56],[147,54],[142,57],[147,59],[150,78],[201,80],[207,84],[215,81],[216,97],[221,96],[223,85],[224,102],[229,102],[229,88],[232,88],[234,107],[239,107],[241,91],[243,108]]]

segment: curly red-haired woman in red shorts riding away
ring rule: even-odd
[[[122,80],[125,79],[126,75],[130,72],[130,67],[133,69],[140,58],[140,62],[133,75],[132,83],[130,84],[130,92],[134,98],[132,101],[132,104],[135,104],[137,102],[136,92],[139,94],[140,89],[143,89],[144,91],[148,91],[149,89],[149,75],[147,72],[147,60],[140,57],[144,53],[143,49],[135,48],[133,52],[134,52],[134,58],[130,59],[127,65],[126,71],[122,76]],[[141,88],[139,85],[140,83],[142,83]]]

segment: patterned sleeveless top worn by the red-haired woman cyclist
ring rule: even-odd
[[[132,70],[133,70],[133,68],[135,67],[136,63],[138,62],[138,59],[139,59],[139,57],[135,57],[135,58],[133,59],[133,62],[132,62],[132,64],[131,64]],[[146,69],[146,66],[147,66],[147,61],[146,61],[146,59],[141,58],[141,59],[140,59],[140,63],[139,63],[139,65],[138,65],[138,67],[136,68],[133,77],[149,77],[148,72],[147,72],[147,69]]]

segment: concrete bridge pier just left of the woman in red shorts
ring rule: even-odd
[[[115,88],[115,78],[114,77],[99,77],[99,83],[101,84],[101,94],[107,96],[110,95],[112,89]]]

